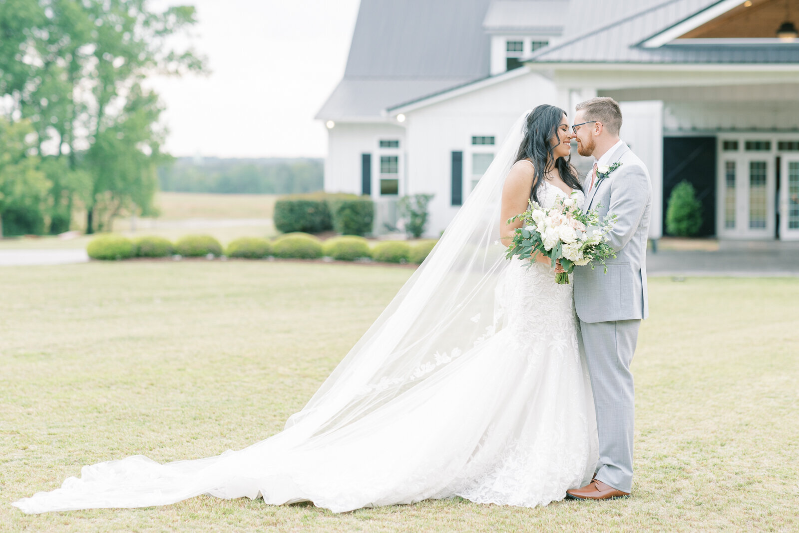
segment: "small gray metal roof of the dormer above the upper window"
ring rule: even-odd
[[[562,34],[570,0],[494,0],[483,28],[487,32]]]

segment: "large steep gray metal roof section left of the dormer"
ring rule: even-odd
[[[383,109],[485,78],[491,0],[361,0],[344,79],[316,118],[380,117]]]

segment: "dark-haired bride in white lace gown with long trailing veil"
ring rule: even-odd
[[[534,507],[582,487],[598,459],[572,285],[508,261],[508,218],[574,190],[566,113],[539,105],[427,261],[283,432],[239,451],[97,463],[14,503],[26,513],[149,507],[196,495],[311,501],[334,512],[461,496]],[[504,242],[503,242],[504,241]]]

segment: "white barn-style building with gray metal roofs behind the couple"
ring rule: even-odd
[[[650,237],[686,179],[702,234],[799,240],[797,26],[799,0],[361,0],[344,79],[317,115],[324,188],[373,197],[375,233],[398,197],[435,194],[437,236],[519,113],[573,116],[610,96],[650,169]]]

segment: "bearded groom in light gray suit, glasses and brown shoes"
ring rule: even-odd
[[[633,485],[633,375],[630,361],[638,326],[649,314],[646,301],[646,240],[652,185],[646,166],[618,138],[622,110],[613,98],[591,98],[577,105],[572,130],[578,153],[594,156],[586,176],[585,209],[600,217],[618,216],[608,233],[616,252],[601,267],[574,269],[574,307],[580,319],[591,388],[594,391],[599,462],[585,487],[566,491],[574,499],[630,495]]]

